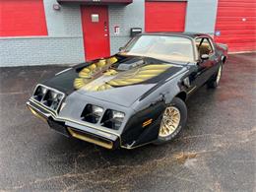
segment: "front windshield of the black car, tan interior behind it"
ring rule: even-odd
[[[128,43],[121,54],[181,62],[194,60],[192,41],[181,36],[141,35]]]

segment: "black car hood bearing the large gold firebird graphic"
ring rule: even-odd
[[[131,60],[133,61],[131,62]],[[142,63],[141,60],[142,58],[138,57],[118,58],[114,59],[114,64],[108,62],[108,66],[105,62],[107,67],[100,69],[96,69],[99,66],[99,60],[96,60],[90,64],[60,72],[43,84],[59,90],[67,96],[80,94],[128,107],[140,96],[182,69],[182,66],[160,61],[142,64],[128,70],[111,68],[113,65],[120,66],[123,63],[124,66],[119,68],[125,68],[136,62]],[[126,64],[127,66],[125,66]]]

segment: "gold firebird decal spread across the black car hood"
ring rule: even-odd
[[[110,59],[112,62],[109,62],[111,64],[115,63],[117,59],[113,59],[115,57],[111,57]],[[98,61],[100,62],[100,61]],[[101,61],[101,63],[103,63]],[[105,62],[107,63],[107,62]],[[110,65],[111,65],[110,64]],[[117,71],[113,69],[108,69],[104,73],[101,72],[101,75],[103,76],[113,76],[116,75],[116,77],[112,78],[111,80],[108,80],[104,83],[100,83],[98,85],[90,85],[90,83],[96,79],[96,67],[98,64],[92,64],[89,67],[84,68],[79,73],[79,78],[75,79],[74,81],[74,87],[75,89],[83,89],[89,92],[98,92],[98,91],[104,91],[111,89],[113,87],[123,87],[123,86],[131,86],[134,84],[140,84],[142,82],[145,82],[147,80],[153,79],[157,76],[159,76],[161,73],[169,69],[172,65],[170,64],[150,64],[145,65],[140,68],[134,68],[125,72],[118,73]],[[102,69],[101,69],[102,71]]]

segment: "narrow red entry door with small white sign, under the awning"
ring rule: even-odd
[[[98,22],[92,22],[98,14]],[[85,59],[94,60],[110,55],[109,18],[107,6],[81,6]]]

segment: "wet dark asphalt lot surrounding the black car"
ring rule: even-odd
[[[229,55],[221,86],[188,100],[178,139],[132,151],[65,138],[32,116],[33,86],[61,69],[0,69],[0,191],[256,191],[256,53]]]

